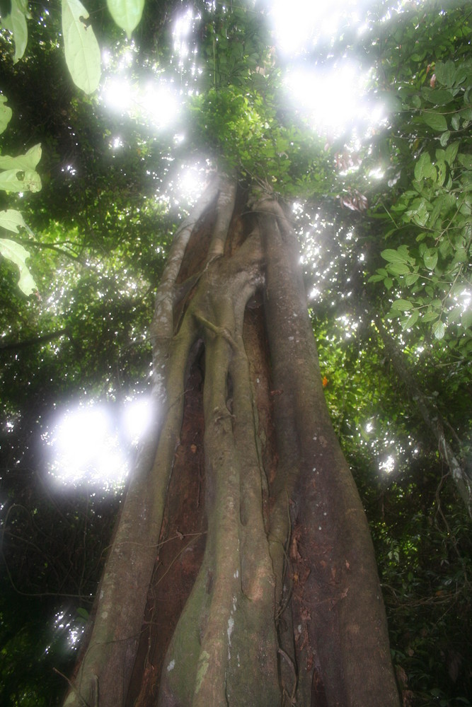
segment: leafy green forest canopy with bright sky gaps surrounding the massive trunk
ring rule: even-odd
[[[67,686],[136,448],[126,411],[149,390],[156,286],[215,171],[272,189],[299,233],[403,704],[472,701],[472,10],[343,5],[326,33],[304,8],[291,45],[279,11],[1,4],[5,704]]]

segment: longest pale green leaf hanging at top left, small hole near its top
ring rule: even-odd
[[[66,62],[72,80],[85,93],[93,93],[100,83],[100,47],[79,0],[62,0],[62,33]]]

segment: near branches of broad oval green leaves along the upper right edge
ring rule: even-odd
[[[422,322],[432,322],[434,336],[442,339],[446,327],[461,320],[464,336],[462,332],[454,333],[459,348],[467,354],[471,350],[467,329],[472,320],[469,313],[461,315],[471,249],[471,160],[462,152],[468,149],[467,141],[449,143],[451,130],[447,129],[444,112],[447,111],[448,117],[452,113],[449,118],[452,139],[466,134],[472,119],[472,105],[468,103],[472,64],[460,62],[456,68],[451,61],[437,62],[433,70],[434,79],[430,83],[433,82],[434,88],[422,87],[420,95],[408,91],[410,95],[404,98],[405,103],[410,103],[406,110],[418,112],[413,119],[418,132],[422,129],[425,136],[416,138],[422,144],[415,160],[413,189],[403,192],[390,211],[395,228],[389,235],[401,231],[403,240],[415,238],[419,245],[384,250],[381,256],[388,264],[370,281],[382,280],[387,288],[396,282],[408,295],[392,304],[392,310],[408,312],[401,320],[403,329],[413,327],[421,317]],[[438,106],[437,112],[431,105]],[[434,146],[437,132],[441,133],[442,147]],[[454,326],[451,328],[454,330]]]

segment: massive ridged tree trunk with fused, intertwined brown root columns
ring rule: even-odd
[[[367,520],[275,199],[210,185],[175,236],[151,335],[155,441],[65,704],[398,707]]]

